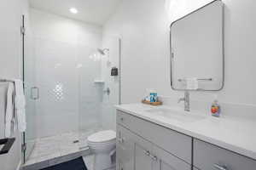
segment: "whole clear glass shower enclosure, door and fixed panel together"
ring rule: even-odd
[[[108,113],[113,107],[103,99],[106,87],[99,81],[108,56],[102,56],[96,48],[86,45],[38,37],[34,39],[34,51],[33,63],[26,61],[26,76],[34,76],[32,87],[37,87],[40,92],[36,105],[35,101],[28,103],[28,107],[37,112],[36,119],[28,115],[34,126],[28,130],[37,129],[36,151],[32,152],[32,159],[52,156],[56,152],[62,156],[86,148],[86,139],[91,133],[102,130],[103,125],[108,124],[104,128],[110,128],[108,120],[103,122],[102,109]],[[108,65],[108,78],[110,68]],[[116,78],[113,80],[117,81]],[[30,94],[27,91],[27,98]],[[114,90],[113,94],[116,95]],[[102,108],[103,102],[105,108]],[[111,122],[114,117],[112,114]],[[51,150],[42,151],[40,146],[47,144]]]

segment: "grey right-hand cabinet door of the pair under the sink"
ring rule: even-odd
[[[151,158],[154,161],[153,170],[191,170],[191,165],[187,162],[156,145],[153,146]]]

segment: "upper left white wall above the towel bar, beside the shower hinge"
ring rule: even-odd
[[[11,0],[1,3],[0,73],[1,77],[20,77],[21,3]],[[9,10],[13,8],[13,10]],[[8,65],[8,66],[6,66]]]

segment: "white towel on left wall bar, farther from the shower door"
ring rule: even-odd
[[[15,94],[14,83],[9,82],[7,96],[6,96],[5,129],[4,129],[5,138],[11,137],[13,133],[13,128],[14,128],[13,120],[15,117],[14,94]]]

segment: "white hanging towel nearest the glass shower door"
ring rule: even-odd
[[[26,99],[23,90],[23,82],[15,80],[15,116],[18,122],[18,129],[21,133],[26,131]]]

